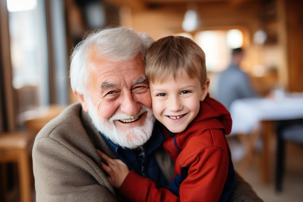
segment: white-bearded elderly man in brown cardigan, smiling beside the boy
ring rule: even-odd
[[[33,147],[37,202],[125,201],[109,184],[97,149],[165,187],[174,173],[152,116],[144,56],[152,39],[123,27],[90,34],[71,57],[80,103],[39,132]],[[230,201],[261,201],[236,175]]]

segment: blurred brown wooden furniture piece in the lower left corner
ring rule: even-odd
[[[22,202],[32,202],[31,150],[35,135],[29,132],[0,132],[0,162],[17,164]]]

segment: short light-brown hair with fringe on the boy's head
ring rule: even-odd
[[[207,79],[205,54],[193,40],[183,36],[167,36],[152,43],[146,52],[145,74],[152,83],[174,79],[184,70],[190,78],[198,78],[201,86]]]

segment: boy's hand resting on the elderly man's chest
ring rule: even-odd
[[[107,162],[106,165],[106,162],[101,161],[101,166],[104,171],[107,172],[107,179],[109,183],[115,188],[120,188],[124,179],[129,173],[126,164],[123,163],[120,159],[112,159],[108,157],[106,154],[99,150],[97,150],[97,152]]]

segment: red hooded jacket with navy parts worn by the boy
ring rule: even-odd
[[[234,182],[227,180],[227,174],[231,178],[234,174],[225,137],[230,130],[229,112],[208,95],[185,131],[174,137],[166,134],[164,148],[175,161],[175,175],[169,186],[157,188],[152,180],[130,171],[119,192],[130,202],[227,201]],[[228,166],[232,170],[228,171]],[[227,193],[223,194],[223,189]]]

